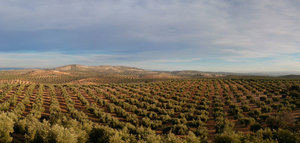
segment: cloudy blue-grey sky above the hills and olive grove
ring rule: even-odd
[[[0,68],[300,72],[299,0],[0,0]]]

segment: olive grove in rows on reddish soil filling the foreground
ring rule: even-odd
[[[298,142],[300,80],[0,84],[1,142]]]

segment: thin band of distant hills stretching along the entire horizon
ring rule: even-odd
[[[135,74],[135,75],[144,75],[144,74],[171,74],[176,76],[188,76],[188,77],[211,77],[211,76],[225,76],[225,75],[238,75],[238,76],[286,76],[286,75],[300,75],[300,72],[249,72],[249,73],[233,73],[233,72],[204,72],[196,70],[181,70],[181,71],[159,71],[159,70],[145,70],[135,67],[127,66],[110,66],[110,65],[100,65],[100,66],[86,66],[86,65],[66,65],[61,67],[56,67],[52,69],[41,69],[41,68],[0,68],[1,71],[5,70],[32,70],[42,73],[42,71],[52,71],[52,72],[68,72],[72,74],[80,73],[97,73],[97,74]],[[39,71],[37,71],[39,70]]]

